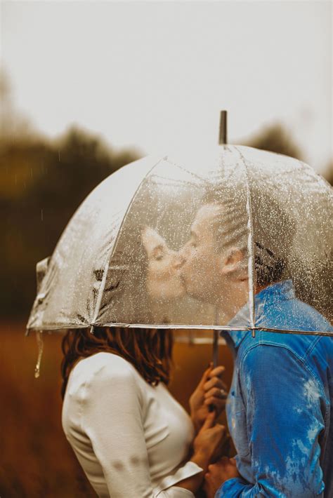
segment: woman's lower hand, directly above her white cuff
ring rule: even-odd
[[[193,441],[194,455],[192,461],[207,469],[211,462],[220,456],[222,441],[226,428],[221,424],[215,424],[215,412],[210,412],[204,421],[197,437]]]

